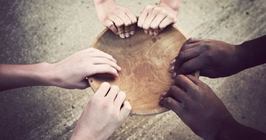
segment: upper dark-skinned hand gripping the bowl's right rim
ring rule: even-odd
[[[227,77],[243,70],[240,65],[239,47],[222,41],[189,38],[180,53],[170,63],[169,72],[175,78],[200,70],[201,76]]]

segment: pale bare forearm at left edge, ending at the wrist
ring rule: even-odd
[[[52,86],[51,64],[32,65],[0,64],[0,91],[28,86]]]

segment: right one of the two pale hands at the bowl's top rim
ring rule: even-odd
[[[146,34],[158,35],[167,25],[176,23],[179,3],[175,8],[171,8],[165,2],[160,2],[158,7],[147,5],[139,17],[138,27],[143,28]]]

